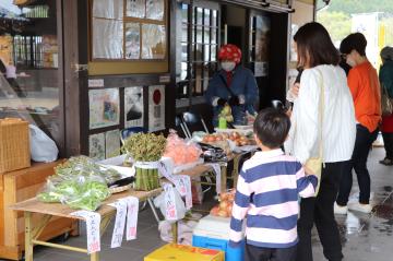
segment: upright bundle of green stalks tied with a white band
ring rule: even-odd
[[[165,151],[167,140],[163,134],[135,133],[129,137],[122,152],[127,153],[134,162],[158,162]],[[135,190],[153,190],[159,187],[157,168],[144,168],[140,164],[135,166]]]

